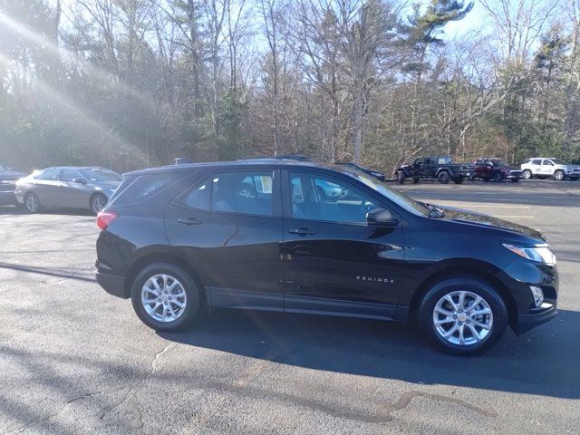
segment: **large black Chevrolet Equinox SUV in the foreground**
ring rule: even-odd
[[[556,258],[534,229],[414,201],[343,166],[131,172],[97,223],[97,281],[160,331],[206,308],[346,315],[413,322],[465,354],[556,315]]]

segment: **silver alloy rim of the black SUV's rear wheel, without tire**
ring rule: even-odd
[[[141,288],[145,312],[158,322],[174,322],[186,309],[188,296],[179,280],[171,275],[153,275]]]

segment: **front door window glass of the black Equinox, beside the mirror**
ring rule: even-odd
[[[294,218],[363,224],[367,212],[377,208],[360,190],[324,176],[291,173],[290,189]]]

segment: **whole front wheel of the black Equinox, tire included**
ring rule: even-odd
[[[463,308],[467,307],[467,312],[459,307],[461,294],[464,295]],[[453,305],[446,300],[446,296],[451,298],[457,310],[453,309]],[[478,303],[475,307],[476,311],[485,314],[473,316],[469,311],[469,307],[476,302]],[[436,311],[436,308],[452,314],[442,314]],[[426,334],[430,342],[443,352],[454,355],[478,353],[495,343],[505,332],[508,319],[506,304],[493,286],[477,277],[470,276],[449,277],[432,285],[420,301],[417,314],[420,333]],[[463,322],[459,322],[460,319]],[[435,324],[436,320],[445,322]],[[488,329],[481,326],[486,326]],[[454,328],[456,329],[448,338],[443,336]],[[461,330],[463,343],[461,343]]]

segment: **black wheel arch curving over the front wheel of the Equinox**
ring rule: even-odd
[[[429,289],[438,282],[453,277],[473,277],[480,279],[498,290],[499,296],[506,304],[508,314],[508,324],[513,326],[517,324],[517,305],[514,297],[509,293],[507,286],[498,278],[499,269],[496,266],[490,265],[484,261],[473,259],[457,259],[445,262],[430,275],[425,277],[418,285],[417,290],[411,297],[409,304],[408,318],[411,323],[417,320],[417,311],[420,301]]]

